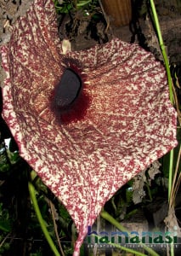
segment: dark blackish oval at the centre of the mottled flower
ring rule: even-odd
[[[65,69],[65,73],[63,73],[62,78],[55,90],[55,107],[59,108],[60,110],[70,108],[73,102],[76,101],[81,88],[82,81],[80,77],[72,69]]]

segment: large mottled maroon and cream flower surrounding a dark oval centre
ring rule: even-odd
[[[51,0],[35,0],[1,52],[3,118],[20,155],[74,219],[78,255],[105,202],[177,145],[164,67],[117,38],[64,55]],[[81,96],[71,110],[54,111],[65,67],[76,65]]]

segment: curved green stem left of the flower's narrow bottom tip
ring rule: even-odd
[[[42,218],[40,208],[38,207],[38,204],[37,204],[36,190],[31,182],[28,183],[28,189],[30,192],[31,201],[32,201],[33,207],[35,209],[35,212],[37,214],[37,219],[41,226],[42,232],[43,232],[45,238],[47,239],[49,246],[51,247],[52,251],[54,252],[54,255],[59,256],[60,254],[59,254],[57,248],[55,247],[54,241],[52,240],[51,236],[49,236],[48,230],[47,230],[44,220]]]

